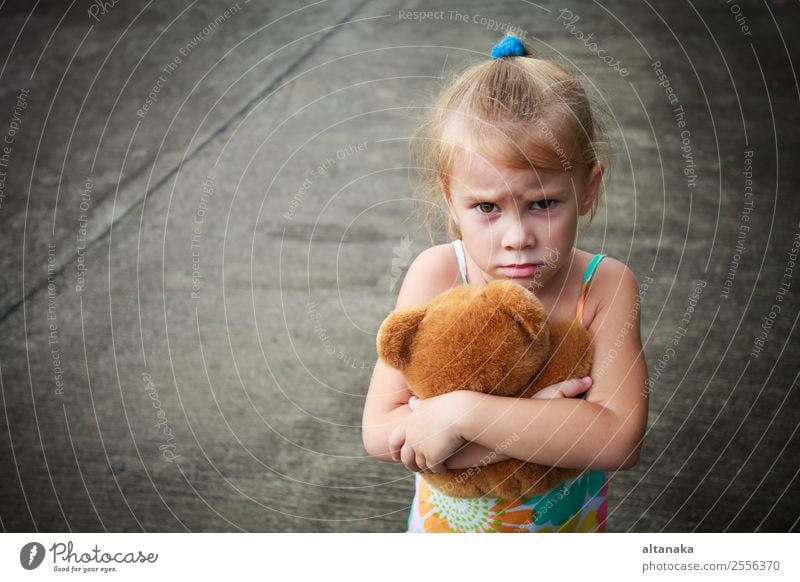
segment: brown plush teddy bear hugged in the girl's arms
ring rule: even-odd
[[[419,398],[454,390],[528,398],[589,375],[592,364],[591,338],[580,322],[548,324],[541,302],[513,281],[462,285],[427,305],[395,310],[377,343],[380,358],[403,372]],[[514,499],[539,495],[580,473],[507,459],[423,477],[454,497]]]

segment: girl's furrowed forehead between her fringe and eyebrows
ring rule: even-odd
[[[479,153],[459,148],[453,158],[451,188],[492,190],[498,193],[509,188],[556,192],[571,185],[572,174],[536,167],[512,168]]]

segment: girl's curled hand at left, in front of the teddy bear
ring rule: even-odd
[[[467,444],[458,429],[469,392],[458,390],[425,400],[416,399],[414,411],[389,434],[392,459],[415,472],[443,473],[445,461]]]

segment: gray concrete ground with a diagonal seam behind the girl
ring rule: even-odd
[[[3,531],[404,530],[360,422],[432,244],[408,137],[504,27],[611,114],[579,246],[639,277],[652,385],[609,529],[798,530],[798,12],[0,4]]]

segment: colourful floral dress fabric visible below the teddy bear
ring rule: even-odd
[[[503,500],[450,497],[416,474],[409,532],[545,533],[603,532],[608,507],[608,477],[586,471],[535,497]]]

